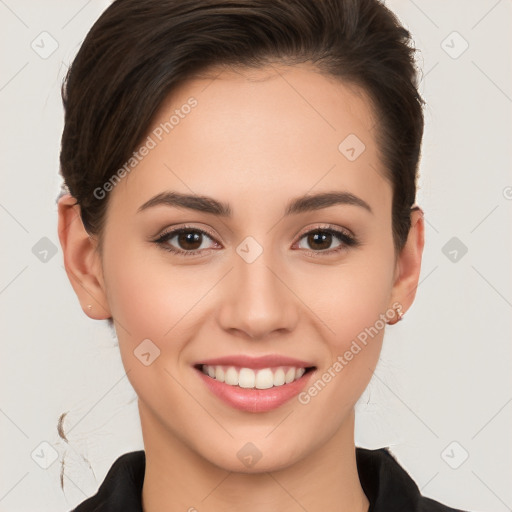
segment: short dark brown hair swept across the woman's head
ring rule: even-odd
[[[101,235],[102,187],[132,156],[176,86],[213,66],[312,62],[362,88],[393,189],[393,242],[407,240],[423,135],[409,32],[377,0],[116,0],[62,86],[64,184]],[[341,142],[341,141],[340,141]],[[101,236],[100,242],[101,242]]]

